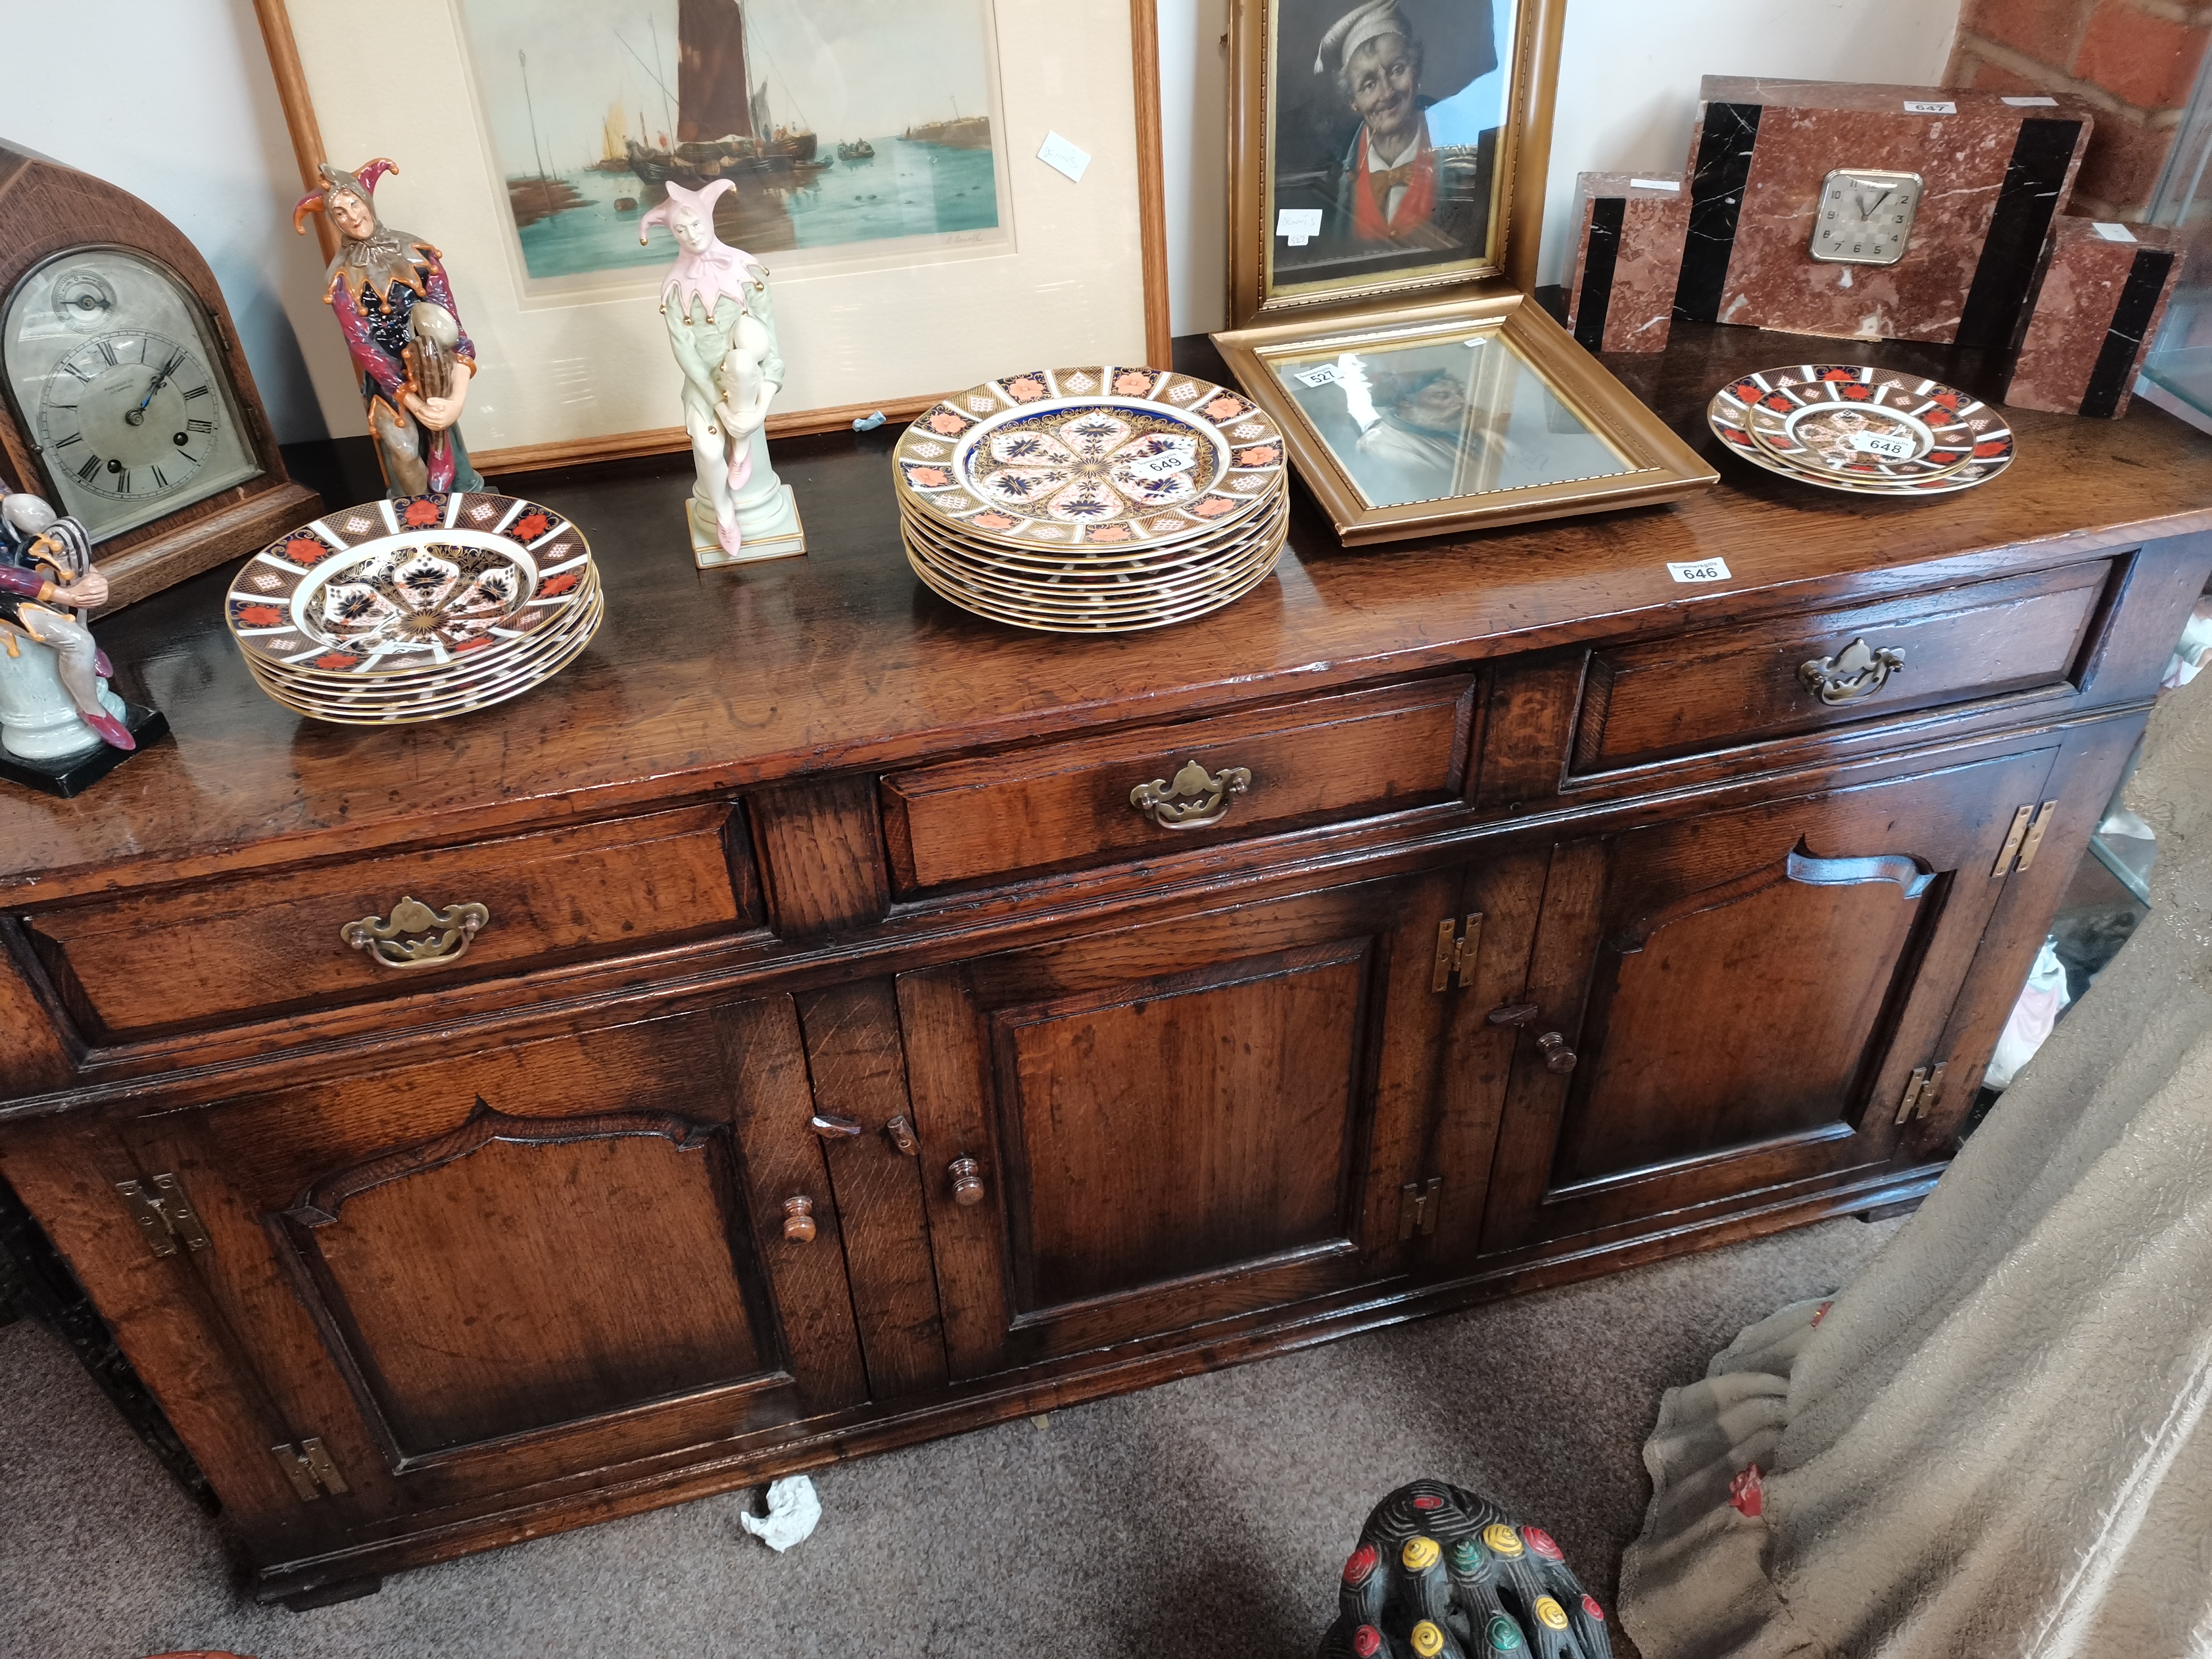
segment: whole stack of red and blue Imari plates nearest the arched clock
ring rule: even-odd
[[[575,524],[473,491],[319,518],[254,553],[223,602],[261,690],[347,726],[520,697],[575,661],[604,608]]]

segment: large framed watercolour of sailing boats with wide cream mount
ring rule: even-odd
[[[303,181],[392,157],[378,210],[453,276],[480,467],[688,447],[641,230],[670,184],[728,179],[714,230],[770,270],[772,434],[1168,349],[1152,0],[257,9]],[[365,91],[394,40],[403,106]]]

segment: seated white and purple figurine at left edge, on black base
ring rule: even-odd
[[[93,630],[62,606],[93,611],[108,580],[73,518],[55,518],[38,495],[0,484],[0,750],[53,761],[106,743],[135,750],[124,701]]]

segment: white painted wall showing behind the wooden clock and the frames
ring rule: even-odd
[[[1683,164],[1699,75],[1933,82],[1958,9],[1960,0],[1571,0],[1542,276],[1557,281],[1575,173]],[[1221,327],[1225,29],[1228,0],[1159,0],[1177,334]],[[0,100],[0,137],[113,179],[199,246],[281,438],[363,431],[321,303],[321,254],[312,234],[292,234],[292,144],[250,0],[0,0],[0,38],[18,88]],[[97,42],[108,95],[77,91],[86,42]]]

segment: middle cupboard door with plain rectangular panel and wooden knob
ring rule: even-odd
[[[1400,1272],[1458,872],[898,980],[953,1376]]]

